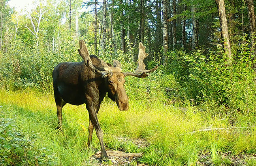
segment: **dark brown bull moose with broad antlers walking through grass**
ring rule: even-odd
[[[78,52],[83,58],[82,62],[64,62],[55,66],[53,70],[53,90],[57,107],[58,127],[62,128],[62,107],[66,103],[72,105],[86,104],[89,113],[88,147],[92,142],[92,132],[95,128],[100,141],[101,160],[107,160],[108,156],[103,143],[103,133],[98,122],[98,111],[102,100],[108,93],[108,97],[117,103],[120,111],[128,110],[129,103],[124,89],[124,77],[147,77],[149,72],[156,70],[145,69],[143,60],[148,56],[145,46],[139,43],[138,65],[135,72],[122,72],[120,62],[113,61],[113,66],[105,63],[95,55],[90,55],[85,41],[79,41]]]

